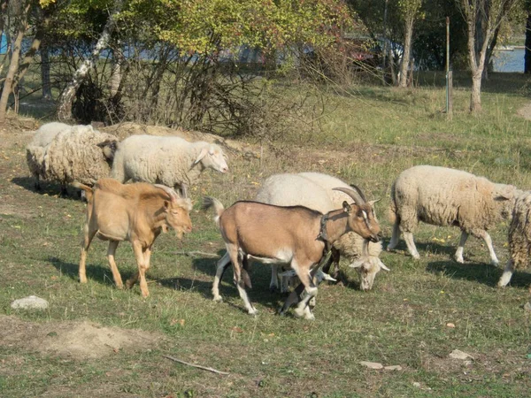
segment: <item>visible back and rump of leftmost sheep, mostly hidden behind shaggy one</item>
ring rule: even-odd
[[[61,131],[69,130],[70,126],[65,123],[46,123],[35,131],[33,140],[26,148],[26,161],[29,171],[35,178],[35,189],[41,189],[40,178],[44,178],[44,151],[51,140]]]

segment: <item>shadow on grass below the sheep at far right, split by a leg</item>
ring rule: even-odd
[[[427,272],[435,274],[444,273],[451,279],[465,279],[480,282],[489,287],[496,287],[503,270],[492,264],[465,263],[455,261],[435,261],[427,264]],[[511,279],[512,287],[531,286],[531,274],[527,272],[514,272]]]

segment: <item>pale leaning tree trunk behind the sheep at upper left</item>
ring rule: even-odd
[[[116,0],[115,2],[115,8],[112,12],[112,15],[107,19],[107,23],[105,24],[104,31],[98,41],[96,42],[96,47],[92,51],[92,54],[89,58],[85,59],[80,67],[73,73],[73,78],[70,83],[66,86],[65,90],[61,94],[58,100],[58,119],[59,120],[71,120],[72,118],[72,105],[73,100],[75,98],[75,95],[77,93],[78,88],[80,88],[81,83],[87,75],[89,74],[89,71],[91,68],[93,68],[96,65],[96,61],[100,55],[100,53],[109,47],[109,42],[111,41],[111,34],[114,30],[114,27],[116,25],[116,15],[121,9],[121,0]]]

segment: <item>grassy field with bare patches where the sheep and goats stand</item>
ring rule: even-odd
[[[370,292],[359,291],[356,272],[342,264],[350,283],[319,287],[312,322],[275,315],[283,297],[268,291],[269,268],[260,264],[252,268],[250,291],[258,317],[243,310],[232,276],[221,285],[224,302],[212,302],[215,258],[184,254],[222,253],[212,215],[198,210],[203,195],[226,205],[250,199],[276,172],[327,172],[357,183],[371,199],[381,197],[384,245],[390,184],[412,165],[450,166],[531,187],[529,122],[517,115],[528,102],[527,79],[491,76],[484,111],[472,116],[467,82],[457,77],[451,121],[442,113],[441,83],[441,76],[425,75],[408,90],[328,88],[320,134],[294,130],[275,142],[276,155],[233,154],[230,174],[204,173],[191,190],[194,232],[183,241],[167,233],[155,243],[147,299],[138,286],[113,287],[101,241],[89,251],[89,283],[78,283],[85,204],[59,198],[54,184],[35,192],[25,158],[34,122],[10,119],[0,136],[0,395],[528,396],[531,322],[522,306],[531,275],[517,272],[509,287],[496,288],[501,270],[473,238],[466,264],[453,262],[458,229],[421,225],[415,234],[421,259],[412,260],[404,242],[384,252],[391,271],[381,272]],[[501,264],[508,256],[506,227],[491,233]],[[127,242],[117,264],[123,278],[135,272]],[[27,295],[48,300],[49,310],[11,309],[12,300]],[[122,338],[119,346],[105,342],[111,334]],[[451,359],[454,349],[473,359]],[[371,370],[361,361],[402,369]]]

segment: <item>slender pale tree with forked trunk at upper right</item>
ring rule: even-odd
[[[481,79],[496,29],[519,0],[456,0],[466,20],[468,63],[472,73],[470,111],[481,111]],[[481,45],[478,46],[478,44]]]

